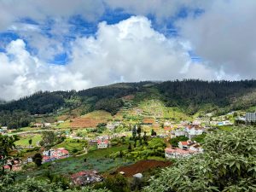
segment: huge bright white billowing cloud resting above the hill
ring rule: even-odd
[[[100,23],[96,36],[73,42],[66,66],[45,63],[18,39],[0,54],[1,97],[13,99],[37,90],[82,90],[119,81],[214,79],[211,69],[191,61],[183,44],[154,31],[143,16],[115,25]]]

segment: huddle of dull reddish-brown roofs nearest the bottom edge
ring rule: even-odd
[[[96,171],[83,171],[74,173],[71,179],[75,185],[84,186],[90,183],[102,182],[103,177]]]

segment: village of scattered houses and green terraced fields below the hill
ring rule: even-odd
[[[0,134],[20,137],[20,141],[16,143],[16,148],[26,154],[20,160],[16,160],[14,164],[8,162],[4,169],[12,169],[17,172],[25,171],[27,170],[26,167],[29,167],[27,165],[34,164],[35,157],[33,155],[39,153],[42,156],[42,165],[55,167],[59,164],[64,165],[65,160],[67,162],[77,160],[80,162],[79,164],[85,165],[78,166],[79,172],[73,170],[73,174],[70,175],[73,184],[98,183],[104,179],[102,177],[103,172],[107,172],[109,169],[113,170],[116,166],[122,167],[127,163],[127,160],[128,165],[139,163],[141,160],[152,161],[157,165],[160,163],[159,160],[172,162],[173,158],[189,158],[192,155],[203,154],[204,149],[201,142],[203,142],[206,134],[216,129],[229,129],[236,121],[240,123],[253,122],[256,117],[255,113],[234,115],[236,112],[231,112],[215,117],[206,114],[204,117],[185,119],[174,111],[167,112],[169,115],[171,113],[172,118],[166,119],[164,118],[166,112],[161,110],[160,103],[154,101],[147,102],[147,104],[146,107],[132,110],[123,108],[119,114],[119,116],[122,115],[122,118],[115,117],[112,120],[109,119],[109,116],[107,118],[103,116],[103,121],[101,121],[102,119],[95,120],[94,117],[91,118],[91,116],[85,115],[84,118],[78,117],[72,120],[36,122],[32,124],[31,128],[21,131],[1,127]],[[106,115],[105,112],[96,113]],[[128,114],[132,116],[132,120],[131,118],[129,121],[127,120],[129,119]],[[89,127],[87,127],[87,124],[90,124]],[[70,126],[73,126],[73,128],[70,128]],[[64,139],[61,143],[56,143],[50,148],[44,148],[41,143],[41,134],[45,131],[54,132],[57,137],[63,137]],[[22,139],[24,140],[22,141]],[[159,143],[160,146],[154,148]],[[152,149],[148,148],[148,145],[153,145]],[[146,156],[139,152],[142,148],[148,151]],[[105,154],[104,151],[108,152]],[[101,153],[102,155],[100,155]],[[134,155],[135,153],[137,155]],[[92,154],[97,154],[99,157],[91,158]],[[85,157],[83,163],[81,163],[82,157]],[[117,159],[119,160],[118,163],[114,163]],[[113,163],[110,163],[107,168],[97,168],[99,165],[92,166],[95,165],[95,161],[100,162],[98,160],[103,160],[103,164],[104,160]],[[92,163],[92,161],[94,162]],[[84,169],[84,167],[88,168]],[[147,167],[146,170],[150,167]],[[60,170],[63,168],[58,166]],[[125,172],[124,170],[119,169],[119,174],[131,175],[130,171]],[[132,177],[141,179],[143,172],[132,172]]]

